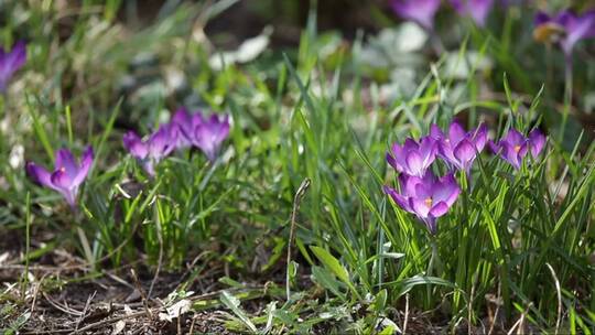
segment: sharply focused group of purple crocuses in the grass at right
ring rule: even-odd
[[[387,162],[400,173],[399,190],[385,186],[383,191],[399,207],[421,219],[431,234],[436,234],[436,219],[448,212],[461,194],[455,172],[464,171],[468,176],[473,162],[488,142],[495,153],[520,169],[528,152],[533,159],[538,158],[545,145],[545,137],[538,129],[527,138],[510,129],[502,139],[494,142],[488,141],[485,125],[465,131],[455,121],[448,133],[432,125],[430,134],[419,141],[408,138],[403,144],[391,147]],[[436,158],[448,166],[450,172],[442,177],[436,177],[431,169]]]

